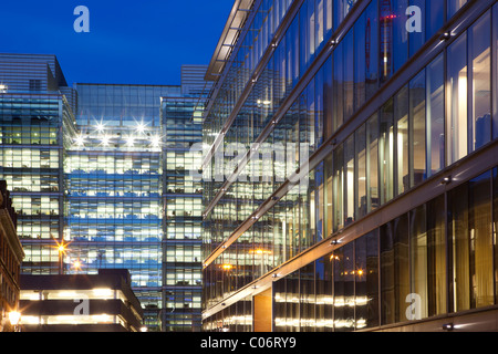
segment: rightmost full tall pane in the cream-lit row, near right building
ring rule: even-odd
[[[468,31],[471,66],[473,142],[477,149],[491,140],[491,17],[487,13]]]

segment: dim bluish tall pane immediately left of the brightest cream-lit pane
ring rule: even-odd
[[[445,163],[445,92],[443,54],[427,66],[427,166],[428,177]]]

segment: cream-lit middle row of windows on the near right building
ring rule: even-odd
[[[497,12],[495,6],[492,11],[483,14],[325,159],[323,173],[312,178],[319,186],[325,180],[325,186],[318,187],[314,197],[317,205],[326,206],[318,214],[323,217],[318,218],[320,227],[313,227],[315,235],[331,235],[362,218],[498,136],[498,114],[492,111],[498,97],[494,87],[497,72],[491,70],[498,56]],[[470,35],[475,40],[468,41]],[[460,51],[464,55],[455,54]],[[465,61],[464,66],[457,64],[456,56]],[[324,69],[330,63],[325,63]],[[313,93],[314,86],[309,88]],[[309,88],[304,93],[308,94]],[[308,103],[313,102],[311,95]],[[317,127],[322,125],[315,124],[314,117],[323,117],[326,126],[331,122],[328,112],[304,112],[308,114],[294,118],[299,124],[289,124],[291,132],[299,133],[302,142],[317,142],[314,132],[320,132]],[[282,123],[286,122],[284,118]],[[279,125],[273,131],[273,139],[278,129]],[[326,128],[324,132],[326,135]],[[310,147],[310,154],[314,148]],[[242,184],[231,185],[208,217],[206,254],[235,230],[229,229],[232,226],[225,220],[245,201],[235,192]],[[272,191],[270,186],[267,194],[259,196],[260,200]],[[250,202],[258,205],[257,200]],[[314,214],[312,211],[313,217]]]

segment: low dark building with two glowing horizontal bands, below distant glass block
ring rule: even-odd
[[[126,269],[21,275],[23,332],[138,332],[143,309]]]

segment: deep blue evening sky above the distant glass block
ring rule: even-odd
[[[179,84],[209,64],[234,0],[2,0],[0,52],[55,54],[72,85]],[[74,8],[90,10],[76,33]]]

